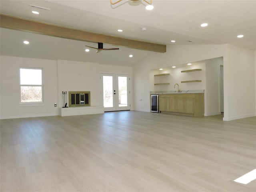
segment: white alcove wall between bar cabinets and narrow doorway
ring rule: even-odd
[[[204,116],[221,114],[220,112],[220,65],[223,57],[206,60],[206,89],[204,94]]]

